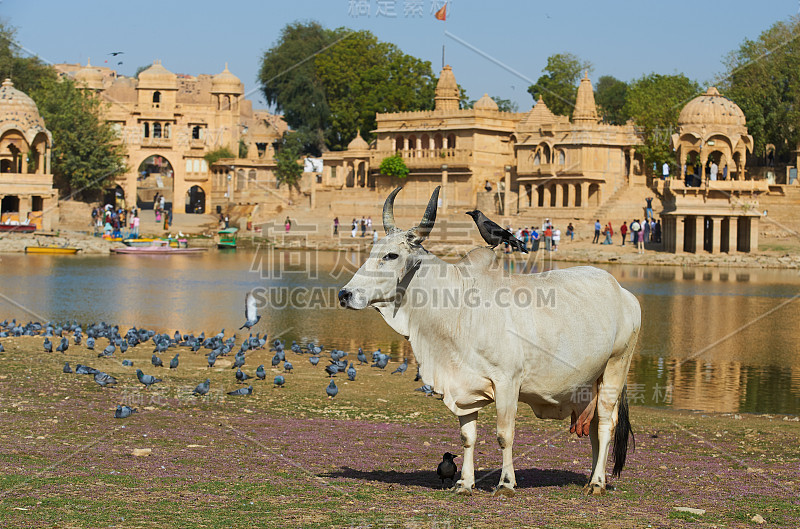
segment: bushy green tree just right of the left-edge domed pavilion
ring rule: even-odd
[[[53,134],[51,168],[60,188],[87,197],[125,172],[124,147],[102,119],[99,98],[70,79],[47,79],[30,95]]]

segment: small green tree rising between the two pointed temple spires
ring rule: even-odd
[[[583,70],[591,70],[592,65],[571,53],[557,53],[547,58],[545,74],[528,87],[534,101],[542,97],[547,108],[554,114],[571,116],[578,94],[578,81]]]

